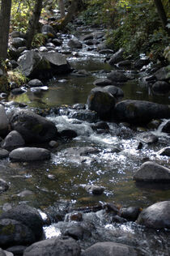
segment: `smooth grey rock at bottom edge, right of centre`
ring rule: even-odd
[[[137,256],[134,247],[112,241],[98,242],[84,250],[81,256]]]

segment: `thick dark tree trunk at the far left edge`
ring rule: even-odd
[[[7,57],[7,47],[10,30],[11,0],[1,1],[0,11],[0,66]]]

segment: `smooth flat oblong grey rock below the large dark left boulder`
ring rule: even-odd
[[[11,151],[10,160],[15,162],[29,162],[29,161],[40,161],[49,160],[50,151],[45,148],[39,147],[19,147]]]

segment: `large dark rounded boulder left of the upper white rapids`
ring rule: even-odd
[[[10,124],[12,130],[17,130],[26,143],[44,143],[57,134],[53,122],[25,109],[13,113]]]

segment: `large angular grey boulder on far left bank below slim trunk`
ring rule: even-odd
[[[36,53],[33,50],[23,53],[18,59],[19,69],[29,78],[45,78],[54,74],[69,72],[70,65],[60,53]]]

